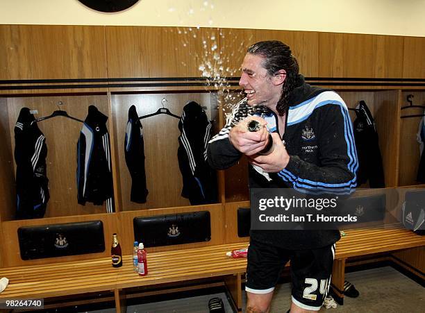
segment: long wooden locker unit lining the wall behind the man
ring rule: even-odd
[[[213,134],[217,133],[225,123],[225,113],[230,111],[224,94],[228,90],[238,93],[240,65],[247,46],[260,40],[288,43],[308,82],[334,88],[349,108],[365,100],[378,129],[385,184],[416,184],[414,174],[419,160],[411,161],[417,149],[412,131],[415,135],[419,118],[401,119],[404,112],[400,108],[407,94],[415,94],[415,104],[424,104],[424,38],[230,28],[2,25],[0,40],[5,43],[0,48],[0,143],[6,147],[0,150],[1,267],[108,257],[113,232],[119,233],[123,253],[131,253],[134,217],[197,210],[211,214],[210,242],[156,247],[153,251],[244,242],[246,239],[237,237],[235,210],[249,205],[245,159],[217,173],[217,203],[190,206],[188,199],[180,196],[178,119],[167,115],[142,119],[149,195],[146,204],[138,205],[129,200],[131,180],[124,158],[124,135],[130,105],[136,105],[141,116],[162,108],[163,99],[167,99],[164,107],[176,115],[181,115],[187,101],[206,106],[208,118],[215,121]],[[222,63],[214,60],[215,53],[219,53]],[[231,76],[231,85],[224,88],[224,94],[219,85],[208,85],[203,77],[200,68],[205,67],[206,59],[211,60],[210,67],[217,73]],[[38,110],[38,116],[46,116],[56,110],[58,101],[65,103],[63,110],[79,119],[85,118],[90,104],[108,115],[116,212],[106,214],[104,206],[76,204],[75,153],[81,125],[56,117],[39,124],[49,149],[51,200],[47,215],[43,219],[14,221],[13,126],[17,114],[22,106],[28,106]],[[62,163],[66,168],[60,167]],[[61,188],[56,188],[58,185]],[[20,226],[94,219],[103,221],[103,253],[22,261],[17,248],[13,248],[18,246]],[[15,249],[12,253],[10,247]],[[399,255],[405,262],[412,259],[414,266],[415,257],[415,251]],[[116,296],[119,298],[119,294]]]

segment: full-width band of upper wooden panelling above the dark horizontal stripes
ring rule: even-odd
[[[247,47],[289,44],[309,77],[424,78],[423,37],[150,26],[2,25],[1,79],[238,76]],[[209,62],[208,62],[209,61]]]

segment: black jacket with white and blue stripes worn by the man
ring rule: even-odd
[[[290,187],[300,192],[349,194],[356,187],[358,159],[347,105],[332,90],[312,87],[299,75],[286,112],[283,140],[290,155],[285,169],[263,173],[249,165],[251,188]],[[233,110],[247,110],[246,100]],[[208,144],[208,162],[215,169],[227,169],[241,153],[228,139],[233,117]],[[270,111],[262,116],[271,132],[278,131],[277,117]],[[251,239],[288,249],[319,248],[340,239],[338,230],[251,230]]]

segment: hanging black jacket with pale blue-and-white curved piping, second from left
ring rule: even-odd
[[[77,189],[78,203],[102,205],[106,201],[106,212],[110,213],[115,209],[107,120],[90,105],[77,143]]]

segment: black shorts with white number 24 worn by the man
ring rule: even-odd
[[[292,302],[306,310],[320,310],[331,285],[335,244],[309,250],[288,250],[251,239],[245,290],[268,294],[291,261]]]

